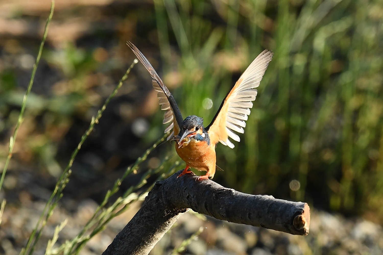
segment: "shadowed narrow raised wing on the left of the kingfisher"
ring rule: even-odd
[[[170,125],[165,129],[165,133],[172,130],[167,138],[167,140],[170,140],[174,135],[178,135],[180,132],[180,126],[183,122],[180,109],[178,108],[173,95],[170,93],[169,89],[166,88],[160,76],[154,70],[144,54],[142,54],[141,51],[139,51],[139,49],[137,49],[137,47],[131,42],[127,42],[127,44],[153,78],[152,85],[155,91],[157,91],[157,97],[160,101],[161,110],[165,110],[164,121],[162,123],[166,124],[170,122]]]

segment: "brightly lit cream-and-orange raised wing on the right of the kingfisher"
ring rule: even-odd
[[[272,56],[273,53],[267,50],[259,54],[226,95],[212,122],[206,127],[213,144],[221,142],[223,145],[234,148],[229,138],[240,141],[234,131],[244,133],[245,120],[250,114],[250,108],[253,107],[252,101],[257,96],[255,88],[259,86]]]

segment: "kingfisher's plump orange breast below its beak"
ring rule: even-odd
[[[190,143],[184,148],[178,149],[175,143],[175,150],[185,163],[200,171],[208,171],[214,175],[216,168],[215,146],[206,141],[191,139]]]

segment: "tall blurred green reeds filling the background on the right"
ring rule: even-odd
[[[217,147],[226,171],[216,179],[278,197],[298,180],[293,199],[382,219],[382,2],[155,1],[155,10],[162,56],[174,41],[180,49],[175,97],[205,125],[252,59],[275,53],[241,142]]]

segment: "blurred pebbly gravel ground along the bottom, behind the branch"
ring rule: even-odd
[[[23,198],[22,203],[21,206],[8,205],[4,211],[0,229],[0,254],[13,255],[20,252],[45,205],[28,198]],[[67,225],[61,231],[57,243],[64,243],[74,237],[97,207],[93,200],[83,200],[77,204],[75,210],[68,211],[65,208],[70,207],[70,204],[73,205],[73,201],[62,200],[57,207],[35,254],[44,254],[47,240],[52,238],[54,228],[65,219]],[[138,208],[139,204],[136,203],[113,219],[105,231],[91,239],[80,254],[101,254]],[[203,218],[205,217],[197,216],[191,211],[185,213],[150,254],[170,254],[200,227],[203,227],[203,232],[190,240],[183,254],[383,254],[382,227],[360,218],[346,219],[340,215],[312,210],[310,233],[306,237],[228,223],[211,217]]]

